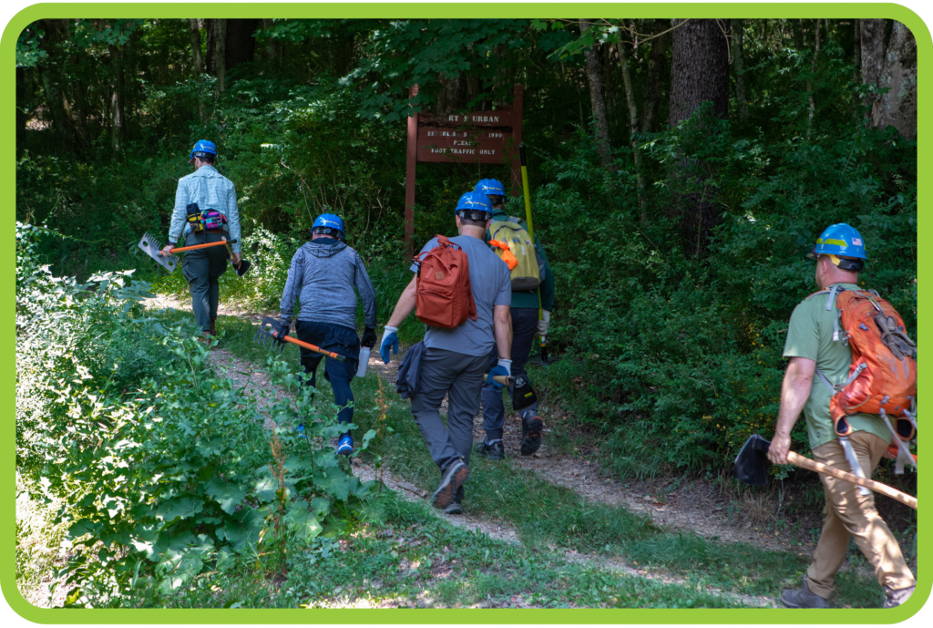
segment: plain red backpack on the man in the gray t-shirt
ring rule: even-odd
[[[467,316],[476,320],[469,260],[464,251],[446,236],[439,235],[437,246],[413,259],[418,264],[415,290],[418,320],[425,325],[448,329],[459,326]]]

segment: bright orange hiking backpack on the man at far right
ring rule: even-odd
[[[891,428],[892,436],[896,434],[905,442],[911,440],[916,433],[917,345],[908,338],[903,318],[874,290],[832,286],[822,292],[829,293],[827,309],[835,296],[839,310],[833,340],[852,348],[849,378],[844,384],[832,386],[826,376],[816,370],[833,392],[829,412],[836,434],[851,434],[852,426],[845,417],[865,412],[880,414]],[[842,331],[839,323],[842,323]],[[897,428],[888,422],[889,416],[897,419]]]

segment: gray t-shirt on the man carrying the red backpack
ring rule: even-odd
[[[495,255],[489,244],[479,238],[458,235],[451,242],[459,246],[469,261],[469,283],[476,301],[476,320],[466,319],[453,329],[425,325],[425,347],[446,349],[466,356],[488,356],[495,344],[493,307],[511,305],[512,279],[508,266]],[[422,253],[438,245],[437,238],[421,249]],[[411,264],[411,272],[418,272],[417,264]]]

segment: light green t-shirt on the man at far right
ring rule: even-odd
[[[854,284],[839,284],[859,289]],[[785,357],[806,357],[816,362],[816,368],[826,375],[830,384],[843,384],[849,377],[852,349],[842,342],[833,342],[833,320],[839,317],[836,300],[826,309],[829,294],[817,294],[803,300],[790,315],[787,342],[784,343]],[[810,398],[803,407],[807,420],[807,435],[810,449],[836,439],[832,419],[829,416],[829,392],[826,384],[814,374]],[[877,414],[852,414],[846,418],[853,430],[865,430],[884,440],[891,439],[891,432]]]

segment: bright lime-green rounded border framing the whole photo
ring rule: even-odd
[[[347,15],[360,15],[365,13],[369,17],[397,18],[475,18],[477,16],[494,15],[498,18],[555,18],[580,15],[625,15],[627,17],[653,18],[659,16],[692,17],[692,18],[884,18],[898,20],[907,25],[917,42],[918,68],[926,69],[933,56],[933,37],[923,18],[912,8],[892,3],[579,3],[565,5],[564,3],[536,3],[522,4],[511,2],[496,3],[451,3],[451,4],[414,4],[414,3],[106,3],[106,2],[49,2],[35,4],[21,8],[7,22],[3,35],[0,37],[0,59],[7,62],[0,66],[0,84],[7,86],[3,94],[3,106],[0,111],[4,120],[0,126],[0,137],[4,141],[2,158],[7,161],[0,172],[0,181],[3,189],[7,191],[6,209],[3,213],[10,220],[7,226],[12,228],[15,220],[16,206],[15,185],[16,171],[13,168],[16,158],[16,40],[22,30],[31,22],[48,17],[81,17],[81,18],[188,18],[197,15],[203,18],[213,17],[242,17],[242,18],[340,18]],[[917,100],[919,104],[926,103],[931,79],[926,72],[921,72],[917,84]],[[926,172],[926,166],[931,165],[931,151],[933,144],[926,140],[933,126],[928,124],[931,117],[920,115],[923,111],[918,108],[917,133],[922,138],[918,143],[918,172]],[[930,197],[933,184],[926,178],[918,181],[918,205],[926,205]],[[918,212],[918,241],[926,241],[926,235],[931,234],[926,216]],[[11,229],[12,231],[12,229]],[[10,232],[7,237],[9,245],[0,247],[0,268],[7,271],[0,274],[0,295],[7,295],[3,302],[2,317],[10,328],[15,321],[15,293],[16,264],[15,244]],[[926,276],[930,273],[931,257],[926,255],[926,248],[921,247],[917,258],[917,272]],[[924,335],[926,326],[930,324],[931,316],[926,310],[926,303],[930,302],[929,294],[923,284],[918,284],[918,330],[917,336]],[[8,300],[6,300],[8,299]],[[9,328],[7,328],[9,329]],[[7,408],[3,412],[4,433],[15,442],[15,410],[16,373],[15,373],[15,333],[5,339],[0,339],[0,355],[7,356],[0,367],[2,384],[0,384],[0,402]],[[933,377],[926,376],[926,370],[920,370],[920,387],[923,382],[933,381]],[[7,413],[8,412],[8,413]],[[8,450],[7,450],[8,452]],[[7,480],[0,482],[0,504],[8,513],[0,520],[0,538],[3,546],[0,557],[3,566],[0,567],[0,590],[3,592],[7,605],[22,619],[35,623],[281,623],[281,624],[308,624],[308,623],[804,623],[804,624],[840,624],[840,623],[895,623],[906,621],[920,612],[926,605],[931,590],[933,590],[933,574],[920,572],[917,579],[917,592],[902,607],[896,609],[833,609],[820,610],[791,610],[791,609],[146,609],[146,611],[132,609],[61,609],[34,607],[22,597],[16,584],[16,456],[11,455],[0,463],[3,475]],[[7,473],[9,475],[7,475]],[[924,473],[923,480],[918,481],[919,500],[933,498],[930,481]],[[924,529],[926,518],[918,513],[917,529]],[[931,549],[931,540],[928,537],[917,539],[918,556],[926,556]],[[919,563],[919,560],[918,560]],[[919,571],[919,570],[918,570]]]

